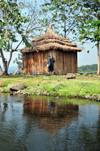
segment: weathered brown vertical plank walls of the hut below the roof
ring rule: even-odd
[[[67,74],[77,72],[77,52],[62,52],[51,50],[46,52],[23,53],[24,74],[47,74],[48,56],[55,58],[55,74]]]

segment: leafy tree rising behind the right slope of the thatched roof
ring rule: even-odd
[[[72,41],[76,40],[78,36],[78,32],[76,31],[76,27],[78,26],[77,20],[81,20],[81,18],[77,18],[78,14],[80,13],[80,9],[77,6],[76,1],[45,0],[45,3],[42,6],[43,13],[48,13],[48,15],[46,15],[46,18],[44,18],[42,22],[55,22],[57,25],[59,25],[60,30],[57,31],[58,34],[67,39],[71,39],[71,37],[73,36]]]

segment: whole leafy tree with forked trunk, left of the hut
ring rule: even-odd
[[[28,19],[21,16],[21,12],[18,9],[17,0],[0,0],[0,54],[2,58],[3,68],[0,66],[2,74],[8,74],[8,67],[12,59],[12,53],[17,51],[22,41],[31,47],[25,37],[23,24],[27,23]],[[19,36],[21,41],[19,42]],[[13,43],[18,43],[16,48],[12,48]],[[9,60],[4,57],[3,51],[10,52]]]

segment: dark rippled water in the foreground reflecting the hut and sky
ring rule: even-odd
[[[100,104],[60,102],[1,95],[0,151],[100,150]]]

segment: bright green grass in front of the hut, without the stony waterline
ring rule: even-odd
[[[30,87],[24,92],[36,94],[38,90],[48,91],[50,94],[55,95],[60,92],[63,96],[68,96],[71,94],[75,96],[76,93],[79,96],[84,96],[86,94],[100,94],[100,77],[92,77],[91,75],[84,76],[76,74],[76,79],[67,80],[66,76],[53,76],[49,75],[49,79],[44,79],[43,75],[38,76],[27,76],[27,75],[17,75],[17,76],[0,76],[1,87],[7,87],[8,84],[23,83],[27,87]],[[55,91],[53,87],[61,83]],[[31,89],[34,88],[34,89]],[[37,89],[37,90],[36,90]]]

